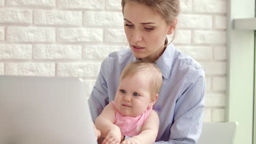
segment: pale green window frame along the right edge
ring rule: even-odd
[[[253,143],[255,0],[228,2],[226,121],[238,122],[235,144]]]

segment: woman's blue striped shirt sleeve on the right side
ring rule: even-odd
[[[205,73],[203,69],[192,71],[186,79],[185,90],[176,101],[173,124],[168,141],[155,144],[195,144],[201,135],[205,107]],[[171,123],[170,123],[171,124]]]

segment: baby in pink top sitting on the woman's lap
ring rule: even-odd
[[[125,67],[114,101],[96,118],[102,143],[154,143],[159,117],[152,110],[162,86],[162,75],[153,63],[132,62]]]

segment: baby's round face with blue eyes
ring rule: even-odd
[[[123,116],[137,117],[153,106],[147,75],[138,73],[120,80],[115,94],[115,107]]]

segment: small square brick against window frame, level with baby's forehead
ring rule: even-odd
[[[212,90],[213,91],[225,91],[226,89],[226,77],[218,76],[212,79]]]

